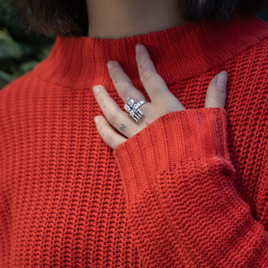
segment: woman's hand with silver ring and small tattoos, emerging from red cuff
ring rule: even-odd
[[[136,62],[141,83],[151,99],[151,102],[141,105],[140,110],[143,112],[143,115],[138,122],[128,112],[122,111],[102,85],[93,87],[94,96],[106,117],[94,117],[96,127],[103,141],[112,149],[127,141],[128,138],[140,132],[160,116],[170,112],[185,110],[179,100],[169,91],[161,76],[156,72],[155,66],[144,45],[136,45]],[[128,97],[133,99],[135,103],[146,99],[134,87],[132,81],[117,61],[108,61],[107,67],[118,95],[124,103],[128,103]],[[226,83],[227,72],[225,71],[213,77],[207,89],[204,108],[220,107],[224,109]],[[122,134],[117,133],[113,127]]]

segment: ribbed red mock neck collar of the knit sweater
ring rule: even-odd
[[[267,23],[237,14],[227,24],[202,21],[119,39],[57,36],[49,56],[36,66],[41,79],[76,89],[106,86],[108,60],[117,60],[132,82],[139,83],[136,43],[144,44],[167,84],[202,75],[224,65],[267,35]]]

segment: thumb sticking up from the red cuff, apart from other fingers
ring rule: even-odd
[[[211,80],[205,99],[205,108],[220,107],[224,109],[226,100],[227,72],[222,71]]]

